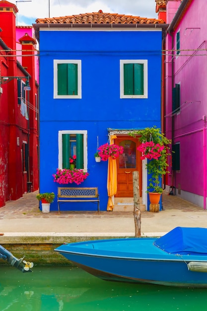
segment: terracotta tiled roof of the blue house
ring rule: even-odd
[[[162,2],[162,1],[160,1]],[[117,13],[99,12],[71,16],[37,18],[37,24],[164,24],[164,20]]]

